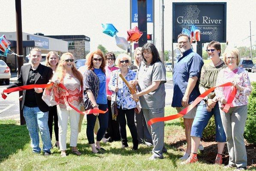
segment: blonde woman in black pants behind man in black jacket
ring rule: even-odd
[[[53,73],[55,73],[55,70],[57,68],[57,65],[59,63],[59,56],[57,52],[50,51],[46,56],[46,66],[51,68]],[[52,127],[54,122],[54,133],[55,133],[55,147],[59,148],[59,127],[58,127],[58,115],[57,115],[57,106],[50,106],[49,112],[48,112],[48,127],[50,131],[50,136],[52,139]]]

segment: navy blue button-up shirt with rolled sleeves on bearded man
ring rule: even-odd
[[[181,100],[185,94],[188,79],[191,77],[197,77],[199,79],[200,72],[204,61],[199,54],[193,52],[189,49],[183,53],[183,56],[178,59],[177,64],[174,65],[172,71],[173,80],[173,97],[172,97],[172,107],[182,107]],[[195,88],[189,96],[189,103],[194,101],[196,97],[200,95],[199,92],[199,82],[197,81]]]

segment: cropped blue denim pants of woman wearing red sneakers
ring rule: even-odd
[[[214,115],[215,126],[216,126],[216,141],[226,142],[226,134],[223,129],[222,121],[220,118],[219,104],[216,103],[211,112],[206,110],[207,104],[202,100],[197,106],[196,117],[193,121],[190,136],[202,138],[202,133],[207,126],[210,118]]]

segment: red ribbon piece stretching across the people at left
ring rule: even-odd
[[[51,84],[31,84],[31,85],[22,85],[22,86],[19,86],[19,87],[5,89],[5,90],[3,90],[2,97],[3,97],[3,99],[6,99],[7,95],[4,94],[4,93],[12,93],[12,92],[15,92],[15,91],[23,91],[23,90],[28,90],[28,89],[32,89],[32,88],[49,88],[53,84],[54,83],[51,83]],[[88,114],[93,114],[93,113],[102,113],[102,114],[104,114],[104,113],[108,112],[108,109],[106,109],[106,111],[103,111],[103,110],[100,110],[100,109],[88,109],[84,112],[81,112],[75,106],[73,106],[72,104],[69,103],[69,92],[66,89],[66,87],[61,83],[58,84],[58,86],[60,88],[63,88],[64,90],[66,90],[66,93],[67,93],[66,94],[66,100],[67,100],[69,106],[72,107],[72,109],[74,109],[76,112],[78,112],[82,115],[88,115]]]

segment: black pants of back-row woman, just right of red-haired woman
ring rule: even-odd
[[[104,136],[106,139],[109,139],[108,142],[112,141],[120,141],[120,132],[119,132],[119,123],[112,119],[112,111],[111,111],[111,100],[108,100],[108,129]]]

